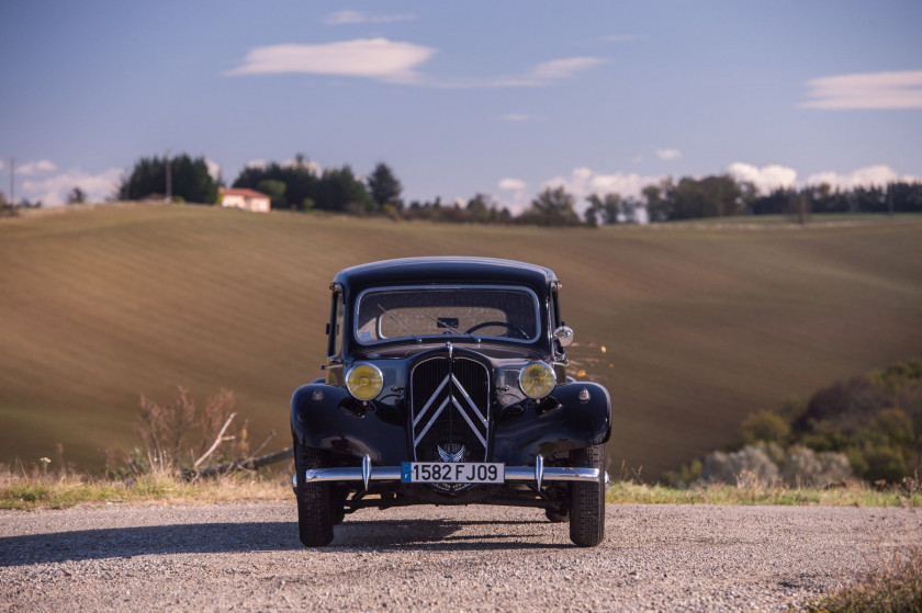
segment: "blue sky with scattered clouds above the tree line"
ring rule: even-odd
[[[140,156],[228,183],[302,152],[407,200],[513,207],[731,171],[922,175],[922,2],[0,4],[0,190],[111,193]]]

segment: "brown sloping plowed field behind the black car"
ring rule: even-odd
[[[609,457],[654,477],[788,394],[922,353],[922,219],[540,229],[196,206],[0,222],[0,462],[85,468],[143,393],[232,389],[261,439],[321,376],[327,285],[408,256],[510,258],[564,283],[572,357],[608,386]],[[601,348],[606,351],[603,352]]]

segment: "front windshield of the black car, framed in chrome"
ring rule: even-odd
[[[356,339],[362,344],[432,337],[531,342],[539,327],[537,296],[518,287],[367,290],[356,307]]]

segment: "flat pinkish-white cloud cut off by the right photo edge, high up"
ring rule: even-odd
[[[802,109],[922,109],[922,70],[823,77],[807,87]]]

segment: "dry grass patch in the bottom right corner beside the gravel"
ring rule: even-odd
[[[828,613],[918,613],[922,611],[922,547],[898,550],[857,583],[812,604]]]

